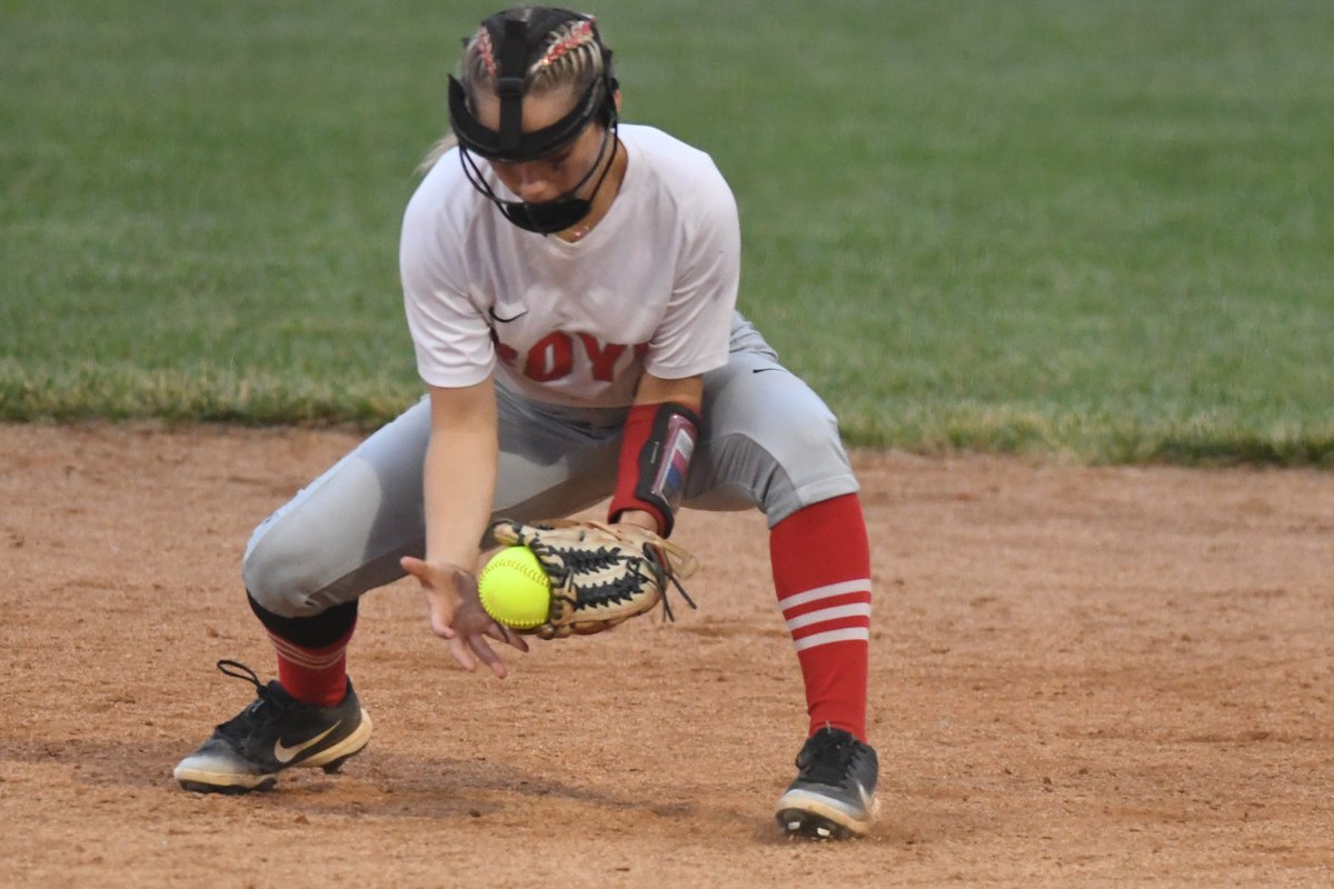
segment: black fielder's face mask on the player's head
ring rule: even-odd
[[[570,21],[587,21],[594,43],[602,55],[602,76],[588,84],[583,96],[570,112],[556,123],[534,132],[523,132],[523,95],[528,65],[539,47],[556,28]],[[482,125],[468,107],[467,89],[456,77],[450,77],[450,127],[459,140],[459,163],[468,181],[487,197],[502,215],[519,228],[539,235],[552,235],[576,225],[592,209],[592,199],[602,188],[612,164],[603,164],[607,145],[616,139],[616,79],[611,68],[611,49],[602,43],[598,25],[591,16],[552,7],[526,7],[498,12],[482,27],[491,36],[491,45],[499,47],[496,96],[500,99],[500,128]],[[467,40],[464,40],[467,44]],[[478,168],[474,155],[484,160],[524,163],[542,160],[571,145],[595,120],[607,128],[594,161],[583,179],[563,195],[540,203],[507,201],[500,199]],[[612,148],[615,152],[615,148]],[[602,176],[587,199],[579,189],[588,184],[602,168]]]

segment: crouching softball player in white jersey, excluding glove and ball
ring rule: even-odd
[[[454,658],[504,677],[492,644],[527,644],[478,604],[488,522],[610,496],[610,521],[664,536],[679,506],[764,512],[808,710],[778,822],[868,829],[870,554],[836,420],[735,312],[736,205],[712,161],[620,124],[619,99],[591,17],[510,9],[467,41],[450,79],[458,144],[434,152],[403,223],[428,396],[255,530],[243,578],[277,680],[219,665],[259,697],[176,766],[187,789],[267,789],[360,752],[358,598],[404,572]]]

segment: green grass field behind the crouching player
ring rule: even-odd
[[[0,0],[0,420],[374,427],[491,12]],[[850,443],[1334,465],[1334,4],[607,3]]]

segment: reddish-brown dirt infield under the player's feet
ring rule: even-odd
[[[804,714],[758,514],[683,518],[699,612],[451,669],[363,600],[340,776],[181,792],[272,673],[252,525],[344,432],[0,427],[7,886],[1334,884],[1334,474],[858,454],[883,817],[778,837]]]

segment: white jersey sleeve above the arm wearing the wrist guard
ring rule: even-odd
[[[710,164],[682,201],[686,232],[678,272],[667,312],[644,355],[644,369],[667,380],[727,364],[740,281],[740,223],[722,173]]]

